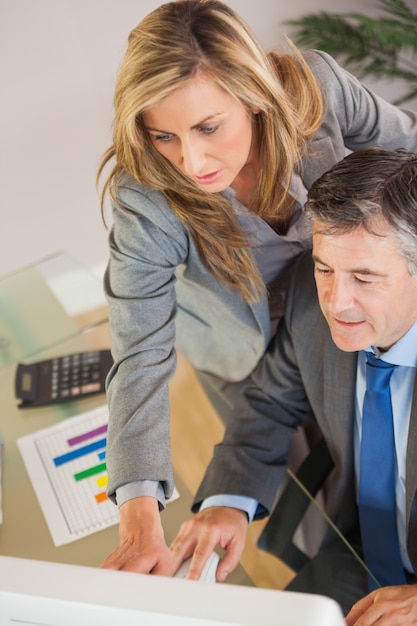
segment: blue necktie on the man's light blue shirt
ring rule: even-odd
[[[395,443],[390,379],[395,365],[366,354],[359,519],[365,563],[379,584],[405,584],[395,508]],[[369,591],[377,588],[368,577]]]

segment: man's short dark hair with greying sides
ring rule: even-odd
[[[410,274],[417,274],[417,154],[381,148],[352,152],[313,183],[305,209],[326,234],[359,226],[378,234],[373,227],[383,217]]]

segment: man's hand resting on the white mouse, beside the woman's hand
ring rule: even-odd
[[[181,525],[171,544],[175,571],[192,555],[187,578],[198,580],[207,559],[218,545],[225,550],[217,566],[216,577],[222,582],[239,563],[245,546],[248,517],[244,511],[213,506],[197,513]]]

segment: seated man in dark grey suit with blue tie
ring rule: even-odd
[[[417,155],[378,148],[352,153],[316,181],[306,211],[313,254],[297,264],[285,317],[247,380],[195,497],[193,510],[199,512],[183,524],[173,558],[179,563],[193,554],[189,578],[198,578],[220,545],[225,554],[217,577],[224,580],[238,563],[248,520],[273,507],[292,434],[316,421],[334,461],[328,513],[364,553],[371,576],[349,551],[338,553],[339,539],[336,546],[329,533],[313,561],[316,572],[330,568],[332,588],[323,588],[324,574],[310,575],[313,562],[290,588],[332,595],[346,611],[359,600],[347,616],[349,625],[359,619],[373,624],[381,616],[384,624],[417,623]],[[388,522],[377,512],[369,534],[363,511],[370,496],[362,482],[373,468],[362,463],[371,358],[375,367],[395,365],[383,385],[384,393],[391,392],[395,519],[394,529],[386,530]],[[383,463],[371,479],[378,486],[389,457],[386,444],[381,446],[377,457]],[[399,567],[383,555],[376,579],[371,543],[380,527],[381,552],[395,539]],[[369,593],[372,586],[376,590]]]

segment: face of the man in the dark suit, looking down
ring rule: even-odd
[[[399,252],[383,218],[377,235],[358,227],[346,234],[321,234],[313,225],[314,274],[321,310],[333,341],[353,352],[370,345],[388,350],[417,319],[417,276]]]

